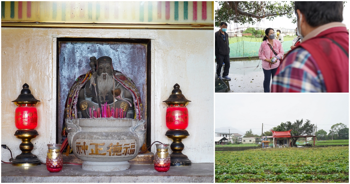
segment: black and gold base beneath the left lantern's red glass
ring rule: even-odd
[[[34,129],[19,129],[15,132],[15,136],[19,139],[22,139],[22,143],[20,144],[20,150],[22,153],[20,155],[17,155],[16,158],[12,161],[13,166],[27,167],[41,164],[38,157],[31,153],[34,145],[30,141],[38,135],[38,132]]]

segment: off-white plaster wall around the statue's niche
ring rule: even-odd
[[[151,142],[172,142],[165,136],[162,101],[178,83],[192,101],[187,106],[190,136],[183,140],[183,153],[193,163],[214,162],[213,30],[1,28],[1,144],[7,144],[14,157],[21,152],[21,140],[13,135],[16,105],[11,101],[24,83],[41,100],[33,154],[45,162],[46,144],[55,142],[57,37],[152,39]],[[1,160],[9,158],[9,151],[1,149]]]

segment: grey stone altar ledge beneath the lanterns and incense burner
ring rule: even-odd
[[[63,164],[63,169],[51,173],[46,165],[17,167],[1,163],[1,183],[213,183],[214,163],[192,163],[191,166],[171,166],[168,172],[157,172],[153,164],[130,165],[125,171],[86,171],[81,165]]]

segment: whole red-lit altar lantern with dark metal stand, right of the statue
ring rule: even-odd
[[[170,166],[191,165],[192,162],[190,159],[182,153],[185,146],[181,142],[182,139],[189,136],[188,131],[185,130],[188,126],[188,110],[186,105],[191,101],[187,100],[182,94],[179,84],[175,84],[172,94],[163,102],[168,105],[166,121],[169,130],[165,135],[173,139],[173,143],[170,144],[170,149],[173,151],[170,154]]]

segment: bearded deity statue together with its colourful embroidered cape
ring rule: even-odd
[[[90,67],[91,70],[80,75],[70,88],[63,119],[114,117],[141,120],[139,91],[130,78],[113,69],[112,59],[90,57]]]

